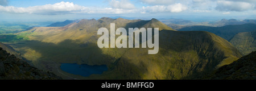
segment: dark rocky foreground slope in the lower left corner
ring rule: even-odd
[[[10,55],[0,48],[0,79],[2,80],[52,80],[61,79],[50,72],[31,67],[26,61]]]

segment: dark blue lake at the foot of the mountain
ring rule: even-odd
[[[108,71],[106,65],[87,65],[87,64],[68,64],[63,63],[60,65],[62,71],[72,73],[74,75],[90,76],[92,74],[102,74],[104,71]]]

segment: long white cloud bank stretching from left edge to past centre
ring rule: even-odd
[[[53,5],[32,6],[32,7],[14,7],[0,6],[0,11],[5,13],[16,14],[40,14],[40,15],[57,15],[57,14],[72,14],[72,13],[88,13],[88,14],[127,14],[135,13],[138,10],[114,9],[114,8],[98,8],[84,7],[75,5],[72,2],[59,2]],[[138,11],[139,12],[139,11]]]

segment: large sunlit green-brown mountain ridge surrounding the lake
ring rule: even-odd
[[[98,48],[97,30],[106,27],[110,31],[110,23],[115,23],[115,29],[159,28],[159,53],[148,55],[148,48]],[[64,27],[34,27],[15,35],[28,37],[11,44],[25,59],[60,76],[60,63],[108,65],[109,71],[102,75],[75,76],[89,79],[190,79],[241,57],[236,48],[217,35],[178,32],[156,19],[82,19]]]

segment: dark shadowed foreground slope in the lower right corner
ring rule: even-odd
[[[229,65],[224,65],[203,79],[256,80],[256,51],[243,56]]]

